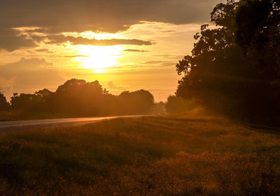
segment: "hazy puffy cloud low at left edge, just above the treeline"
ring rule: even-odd
[[[22,58],[18,62],[0,65],[0,81],[6,81],[5,94],[9,97],[13,92],[33,93],[43,87],[57,87],[64,78],[45,59]]]

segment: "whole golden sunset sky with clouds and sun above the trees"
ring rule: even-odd
[[[71,78],[112,94],[176,92],[176,63],[210,22],[216,0],[1,0],[0,89],[55,91]]]

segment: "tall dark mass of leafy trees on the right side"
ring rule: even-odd
[[[280,117],[279,1],[218,4],[216,27],[202,25],[176,94],[248,123],[276,125]],[[272,57],[273,56],[273,57]]]

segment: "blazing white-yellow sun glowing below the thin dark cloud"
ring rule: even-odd
[[[80,45],[77,60],[86,69],[92,69],[95,73],[104,73],[106,67],[118,66],[122,50],[119,45]]]

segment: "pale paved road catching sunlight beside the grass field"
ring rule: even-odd
[[[0,122],[0,133],[5,134],[10,131],[28,130],[30,128],[48,128],[60,127],[65,125],[80,125],[85,123],[96,123],[102,120],[110,120],[114,118],[140,118],[143,115],[131,116],[106,116],[96,118],[58,118],[44,120],[17,120]]]

